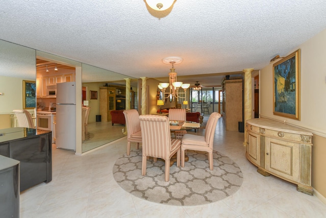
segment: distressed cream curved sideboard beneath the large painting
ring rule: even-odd
[[[268,118],[249,119],[247,159],[258,173],[274,175],[297,185],[297,190],[313,195],[311,149],[313,134]]]

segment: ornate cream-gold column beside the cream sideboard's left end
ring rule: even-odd
[[[244,141],[243,146],[247,146],[247,129],[246,121],[252,118],[252,85],[251,85],[251,72],[254,68],[243,69],[244,72],[244,91],[243,91],[243,115],[244,115]]]

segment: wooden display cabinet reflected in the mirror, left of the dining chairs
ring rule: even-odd
[[[116,109],[116,88],[100,87],[100,115],[105,122],[111,121],[110,111]]]

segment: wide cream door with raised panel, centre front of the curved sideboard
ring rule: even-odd
[[[266,170],[299,182],[300,144],[266,137]]]

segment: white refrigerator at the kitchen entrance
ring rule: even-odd
[[[76,83],[57,83],[56,146],[76,151]]]

